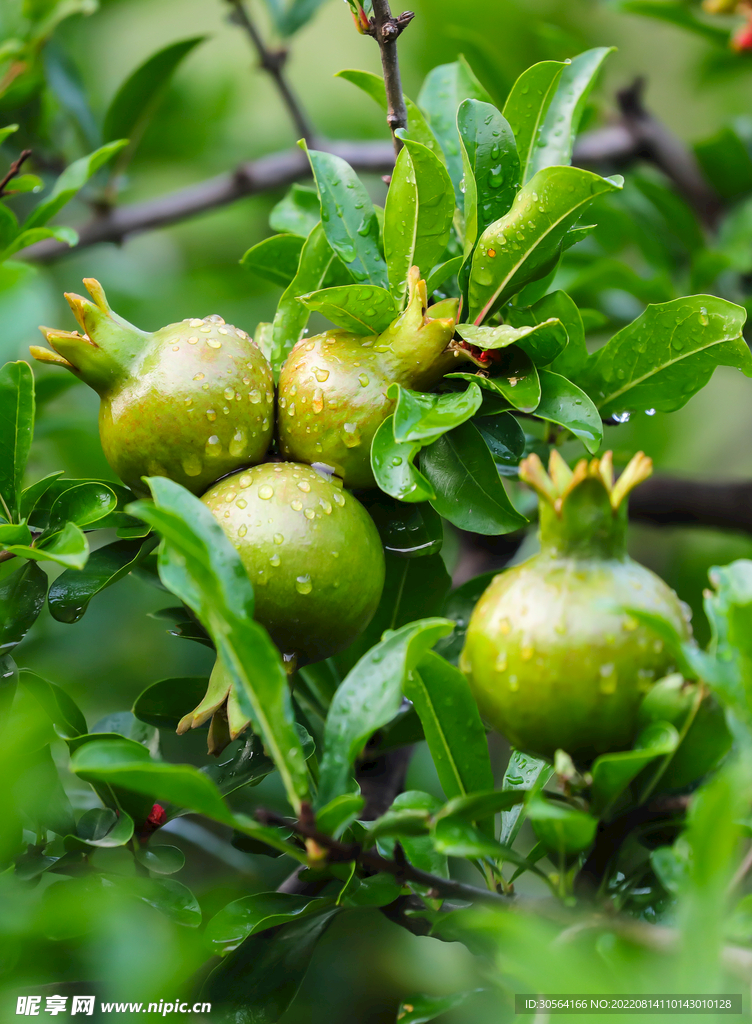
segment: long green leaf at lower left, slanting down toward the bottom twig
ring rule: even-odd
[[[132,740],[92,739],[73,752],[71,771],[87,781],[141,793],[150,800],[234,823],[219,791],[198,768],[152,761],[147,748]]]

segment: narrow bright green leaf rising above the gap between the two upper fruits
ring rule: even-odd
[[[300,338],[310,315],[299,295],[317,292],[324,288],[327,279],[340,267],[344,267],[327,241],[320,222],[311,228],[300,252],[298,272],[282,294],[275,319],[270,328],[270,345],[267,358],[271,364],[275,378],[279,377],[290,349]]]

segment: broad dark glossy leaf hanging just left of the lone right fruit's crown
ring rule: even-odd
[[[509,501],[477,428],[463,423],[421,453],[420,466],[436,497],[431,505],[460,529],[510,534],[528,521]]]

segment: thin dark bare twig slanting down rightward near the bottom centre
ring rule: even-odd
[[[382,857],[374,849],[364,850],[359,843],[342,843],[332,836],[319,831],[315,825],[303,819],[304,815],[301,820],[295,822],[282,817],[281,814],[262,808],[257,808],[255,815],[262,824],[283,825],[285,828],[291,828],[302,839],[312,840],[317,846],[327,851],[330,861],[349,863],[356,860],[371,871],[386,872],[400,881],[415,882],[417,885],[433,889],[440,896],[450,899],[460,899],[471,903],[491,903],[494,906],[509,906],[510,904],[507,897],[491,892],[489,889],[478,889],[475,886],[468,886],[464,882],[455,882],[453,879],[442,879],[437,874],[429,874],[428,871],[421,871],[408,860],[402,858],[391,860],[388,857]]]

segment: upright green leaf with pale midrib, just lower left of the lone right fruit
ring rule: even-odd
[[[405,696],[415,705],[445,795],[493,788],[486,731],[462,673],[430,652],[408,674]]]

